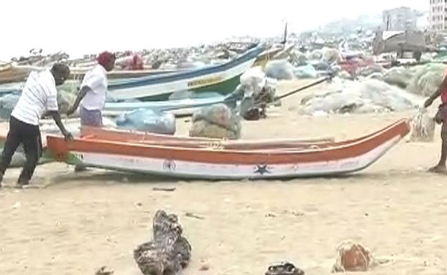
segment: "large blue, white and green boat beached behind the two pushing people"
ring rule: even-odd
[[[199,69],[125,79],[109,83],[109,92],[117,100],[167,100],[175,91],[217,91],[230,94],[239,85],[239,77],[263,52],[260,45],[226,63]]]

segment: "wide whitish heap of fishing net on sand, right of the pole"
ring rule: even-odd
[[[300,112],[315,115],[407,111],[417,108],[422,100],[398,87],[375,79],[345,81],[333,85],[333,91],[311,94],[303,98]]]

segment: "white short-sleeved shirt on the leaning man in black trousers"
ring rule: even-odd
[[[45,109],[58,111],[56,83],[49,69],[31,72],[11,115],[21,122],[39,125]]]

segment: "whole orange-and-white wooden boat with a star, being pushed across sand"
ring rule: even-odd
[[[282,179],[353,173],[367,168],[408,134],[399,120],[369,135],[336,142],[230,141],[83,128],[66,142],[46,135],[47,159],[68,164],[193,179]]]

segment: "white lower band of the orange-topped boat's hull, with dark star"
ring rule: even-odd
[[[112,170],[202,179],[262,179],[353,173],[373,164],[399,140],[400,137],[394,137],[392,140],[358,157],[306,164],[212,164],[105,153],[72,153],[87,166]]]

